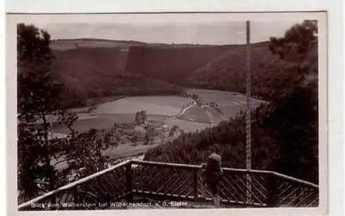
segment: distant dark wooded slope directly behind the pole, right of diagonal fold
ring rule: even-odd
[[[268,42],[250,46],[250,72],[252,82],[262,79],[268,66],[278,57],[268,49]],[[188,86],[234,92],[246,91],[246,46],[233,46],[223,55],[190,73]],[[253,85],[252,85],[253,89]]]

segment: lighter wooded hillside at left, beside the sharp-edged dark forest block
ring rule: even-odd
[[[153,77],[119,70],[119,48],[81,47],[53,50],[52,76],[76,97],[72,106],[90,98],[115,95],[181,95],[183,90]],[[126,62],[125,62],[126,63]]]

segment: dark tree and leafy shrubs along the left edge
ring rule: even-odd
[[[73,130],[77,117],[67,108],[75,95],[52,77],[54,55],[49,44],[48,32],[32,25],[17,25],[19,203],[61,186],[80,168],[100,170],[107,159],[101,155],[103,141],[97,131],[79,134]],[[52,121],[70,128],[67,139],[50,139]],[[51,164],[61,156],[68,162],[63,172]]]

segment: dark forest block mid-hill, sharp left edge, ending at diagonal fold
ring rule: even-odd
[[[190,75],[237,46],[137,46],[130,48],[127,72],[186,86]]]

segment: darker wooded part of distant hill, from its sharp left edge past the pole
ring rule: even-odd
[[[253,79],[265,73],[266,65],[277,61],[268,42],[251,45]],[[179,86],[244,92],[246,45],[194,48],[130,49],[126,70],[156,77]]]

